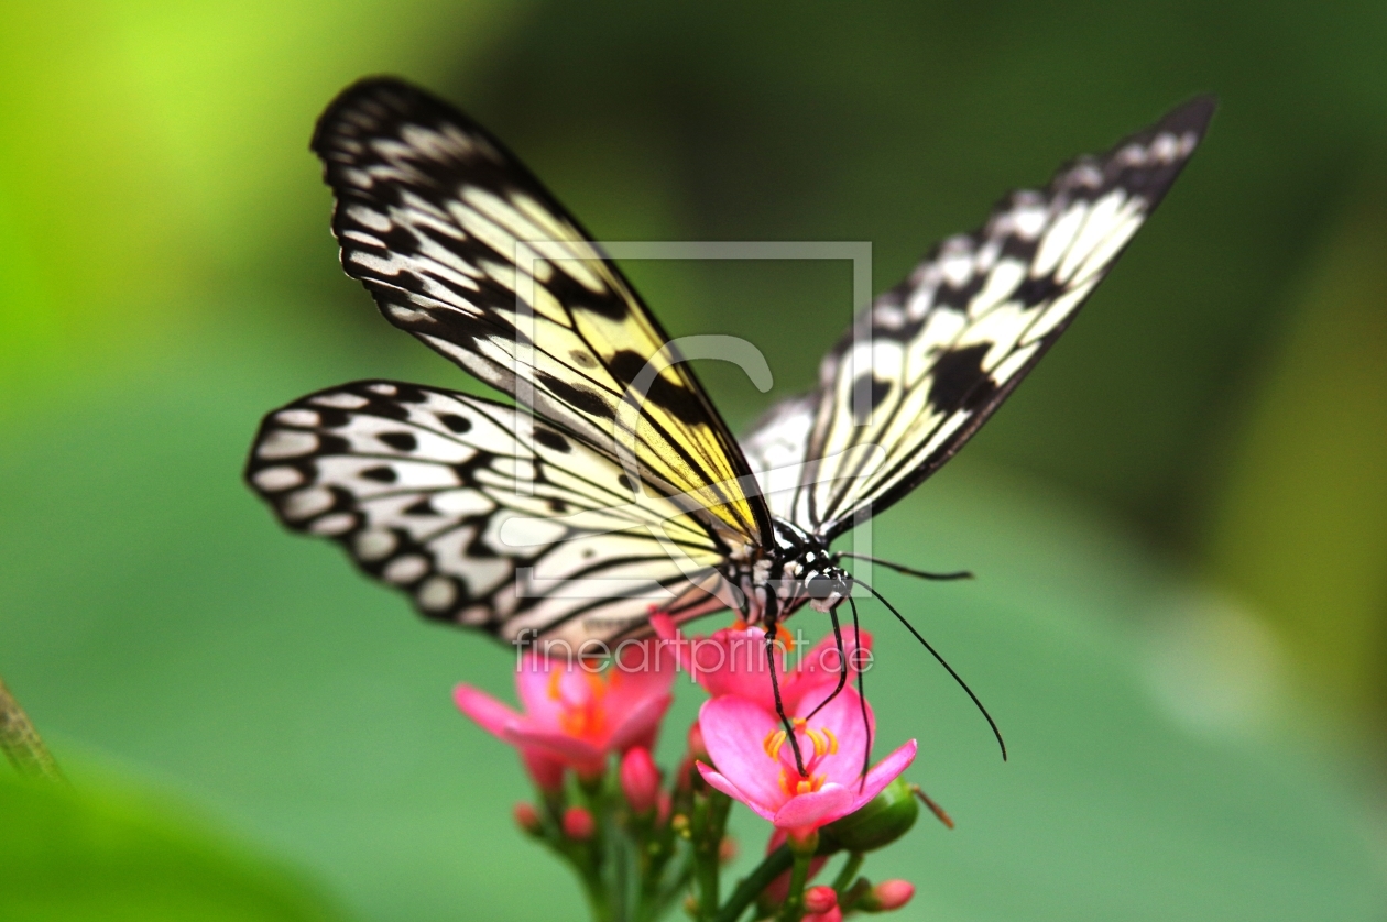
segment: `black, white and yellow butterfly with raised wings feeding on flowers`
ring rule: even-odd
[[[584,652],[648,634],[653,613],[723,609],[773,642],[806,603],[836,634],[854,578],[832,541],[992,416],[1212,111],[1196,98],[1004,198],[738,441],[621,272],[499,140],[417,87],[362,80],[312,139],[341,265],[387,320],[515,403],[327,388],[265,416],[245,477],[284,525],[336,541],[426,617],[506,642]]]

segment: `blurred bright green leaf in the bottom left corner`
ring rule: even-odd
[[[331,922],[283,868],[129,790],[0,776],[0,918]]]

